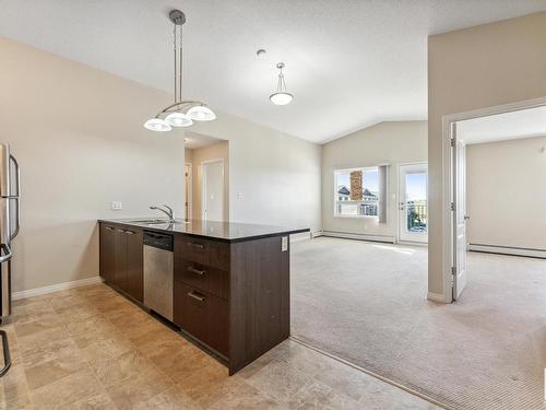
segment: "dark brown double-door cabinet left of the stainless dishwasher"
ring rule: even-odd
[[[99,236],[100,277],[143,302],[142,230],[100,224]]]

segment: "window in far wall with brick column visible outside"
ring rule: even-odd
[[[334,171],[334,215],[379,218],[383,208],[384,168],[372,166]]]

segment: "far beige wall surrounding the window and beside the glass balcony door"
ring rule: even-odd
[[[397,165],[427,162],[427,122],[381,122],[322,148],[322,227],[324,231],[397,235]],[[388,220],[334,218],[334,169],[390,164]]]

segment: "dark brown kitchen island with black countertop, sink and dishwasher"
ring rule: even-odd
[[[104,281],[170,320],[229,374],[289,337],[289,235],[309,229],[197,220],[98,223]],[[157,274],[145,245],[154,238],[167,258]]]

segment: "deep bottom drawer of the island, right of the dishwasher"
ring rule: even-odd
[[[227,301],[175,281],[175,324],[228,355]]]

